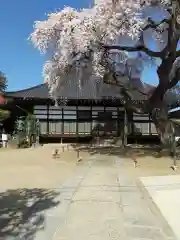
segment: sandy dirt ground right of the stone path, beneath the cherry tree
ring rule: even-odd
[[[91,155],[100,154],[103,156],[104,163],[107,163],[111,156],[123,158],[125,160],[124,166],[134,177],[180,174],[179,157],[176,160],[177,170],[174,171],[171,168],[174,162],[173,159],[169,157],[169,152],[163,151],[159,153],[157,146],[141,146],[140,148],[126,147],[124,150],[117,147],[105,147],[92,150],[85,148],[84,151],[87,151]],[[137,167],[135,167],[135,161],[137,161]]]

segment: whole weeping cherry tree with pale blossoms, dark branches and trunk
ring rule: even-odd
[[[52,97],[58,97],[65,80],[74,80],[74,72],[78,73],[75,81],[80,87],[83,76],[89,76],[94,86],[99,81],[121,86],[125,106],[137,113],[151,113],[162,142],[166,142],[169,121],[165,96],[180,77],[178,11],[179,0],[173,6],[169,0],[98,0],[92,8],[78,11],[66,7],[49,14],[45,21],[35,22],[30,39],[49,55],[43,72]],[[148,45],[150,37],[156,51]],[[123,39],[131,43],[122,44]],[[129,64],[132,53],[137,56]],[[147,98],[145,103],[132,106],[128,104],[133,90],[129,73],[133,67],[141,72],[147,59],[156,62],[159,83],[149,92],[142,90]],[[119,73],[122,69],[129,76],[125,81]]]

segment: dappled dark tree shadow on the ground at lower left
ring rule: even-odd
[[[45,227],[43,211],[59,204],[57,192],[48,189],[16,189],[0,193],[0,239],[34,239]]]

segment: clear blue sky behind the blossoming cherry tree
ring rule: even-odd
[[[90,6],[92,0],[1,0],[0,7],[0,70],[8,78],[8,90],[20,90],[43,83],[44,58],[27,38],[33,22],[46,19],[45,14],[62,9]],[[156,69],[146,67],[145,82],[156,84]]]

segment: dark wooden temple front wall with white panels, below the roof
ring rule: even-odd
[[[121,136],[124,128],[124,110],[118,101],[72,100],[67,106],[54,108],[48,99],[15,99],[8,107],[11,116],[4,122],[8,133],[13,132],[17,118],[28,113],[36,115],[41,134],[47,137]],[[149,115],[128,112],[128,135],[154,134],[156,130]]]

